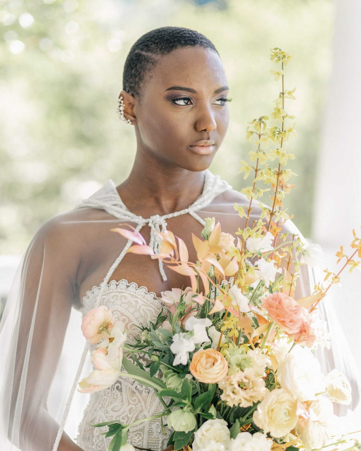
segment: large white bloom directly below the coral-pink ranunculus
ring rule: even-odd
[[[279,363],[278,382],[300,401],[312,400],[316,393],[324,391],[319,361],[300,345],[295,345]]]

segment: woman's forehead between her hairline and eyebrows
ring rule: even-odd
[[[197,92],[227,85],[219,55],[201,46],[182,47],[159,58],[146,90],[165,91],[171,86],[192,87]]]

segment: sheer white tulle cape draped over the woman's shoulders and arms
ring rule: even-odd
[[[222,231],[234,235],[245,223],[233,208],[235,200],[249,203],[240,193],[227,190],[196,213],[203,219],[215,216]],[[255,207],[250,224],[259,214]],[[101,205],[78,208],[46,221],[29,244],[0,322],[2,450],[50,451],[57,449],[59,441],[59,449],[67,442],[72,449],[70,439],[76,437],[88,396],[76,391],[77,383],[90,368],[77,309],[87,290],[110,280],[110,268],[127,244],[111,232],[120,222],[137,226],[112,216]],[[147,228],[144,236],[149,239]],[[177,230],[177,217],[168,221],[167,228],[190,243],[190,236]],[[291,221],[284,229],[299,234]],[[147,262],[156,264],[150,258]],[[121,265],[126,266],[126,261]],[[301,267],[296,299],[312,293],[315,276],[315,271]],[[140,275],[136,282],[145,285],[141,281]],[[359,399],[359,372],[329,299],[319,313],[328,320],[332,339],[330,350],[320,348],[317,356],[325,374],[337,367],[347,375],[353,389],[352,405],[347,407],[353,409]],[[338,413],[344,414],[347,407],[341,406]]]

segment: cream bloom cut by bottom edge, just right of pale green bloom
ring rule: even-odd
[[[194,442],[192,443],[192,450],[203,450],[209,442],[217,442],[228,450],[231,434],[227,427],[227,421],[216,418],[214,420],[207,420],[194,433]]]

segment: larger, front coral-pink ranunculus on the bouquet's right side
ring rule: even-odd
[[[282,327],[287,335],[300,333],[303,326],[302,310],[295,299],[284,293],[273,293],[262,299],[262,308],[268,316]]]

